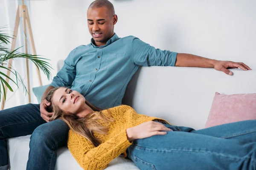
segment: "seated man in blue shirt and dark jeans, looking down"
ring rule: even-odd
[[[228,75],[227,68],[250,68],[241,62],[218,61],[156,49],[136,37],[119,38],[112,3],[96,0],[88,8],[87,22],[91,43],[70,52],[64,66],[44,92],[40,105],[28,104],[0,111],[0,170],[7,170],[6,138],[32,134],[27,170],[53,170],[55,150],[67,144],[67,125],[49,122],[52,113],[44,96],[57,86],[71,86],[93,105],[111,108],[120,105],[126,86],[140,66],[162,65],[215,68]],[[40,115],[41,113],[41,115]],[[49,122],[49,123],[46,123]]]

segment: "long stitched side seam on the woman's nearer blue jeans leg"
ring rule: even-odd
[[[151,149],[151,148],[147,148],[147,147],[141,147],[141,146],[137,146],[136,144],[134,144],[135,147],[140,147],[141,149],[143,150],[152,150],[152,151],[162,151],[162,152],[173,152],[173,151],[176,151],[176,152],[197,152],[197,153],[210,153],[210,154],[215,154],[215,155],[218,155],[218,156],[223,156],[223,157],[227,157],[227,158],[231,158],[231,159],[236,159],[236,160],[241,160],[242,158],[241,157],[236,157],[236,156],[226,156],[222,153],[217,153],[217,152],[212,152],[212,151],[209,151],[209,150],[187,150],[187,149],[169,149],[169,150],[160,150],[160,149]],[[140,150],[140,149],[139,149]],[[243,158],[249,158],[248,156],[244,156]]]

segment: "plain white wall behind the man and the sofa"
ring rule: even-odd
[[[0,0],[2,1],[2,0]],[[15,3],[9,0],[8,3]],[[38,54],[52,67],[81,44],[90,43],[86,11],[93,0],[30,1]],[[6,1],[7,2],[7,1]],[[26,2],[26,1],[25,1]],[[134,35],[160,49],[244,62],[256,69],[255,0],[111,0],[119,37]],[[3,1],[0,3],[3,9]],[[9,11],[15,13],[16,9]],[[4,16],[0,10],[0,15]],[[15,15],[10,16],[14,25]],[[0,26],[6,25],[0,20]],[[52,71],[55,75],[56,71]],[[47,84],[46,77],[43,83]]]

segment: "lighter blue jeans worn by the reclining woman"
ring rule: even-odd
[[[256,120],[173,131],[134,140],[128,158],[141,170],[256,170]]]

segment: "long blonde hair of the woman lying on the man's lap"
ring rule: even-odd
[[[64,87],[58,87],[51,89],[45,99],[51,103],[51,105],[47,108],[48,112],[53,112],[53,115],[51,117],[50,121],[53,121],[55,119],[62,119],[64,122],[67,123],[67,125],[70,127],[71,130],[73,130],[75,133],[78,133],[81,136],[84,136],[87,140],[89,140],[95,147],[99,146],[100,141],[93,135],[93,131],[96,131],[98,133],[102,134],[108,134],[108,126],[102,126],[100,122],[105,123],[111,123],[113,122],[113,117],[108,118],[102,113],[102,109],[99,109],[87,100],[85,103],[93,109],[93,113],[87,114],[86,116],[80,118],[76,116],[74,113],[69,113],[61,110],[57,105],[55,105],[52,102],[52,96],[56,90],[59,88]],[[101,121],[99,121],[101,120]]]

